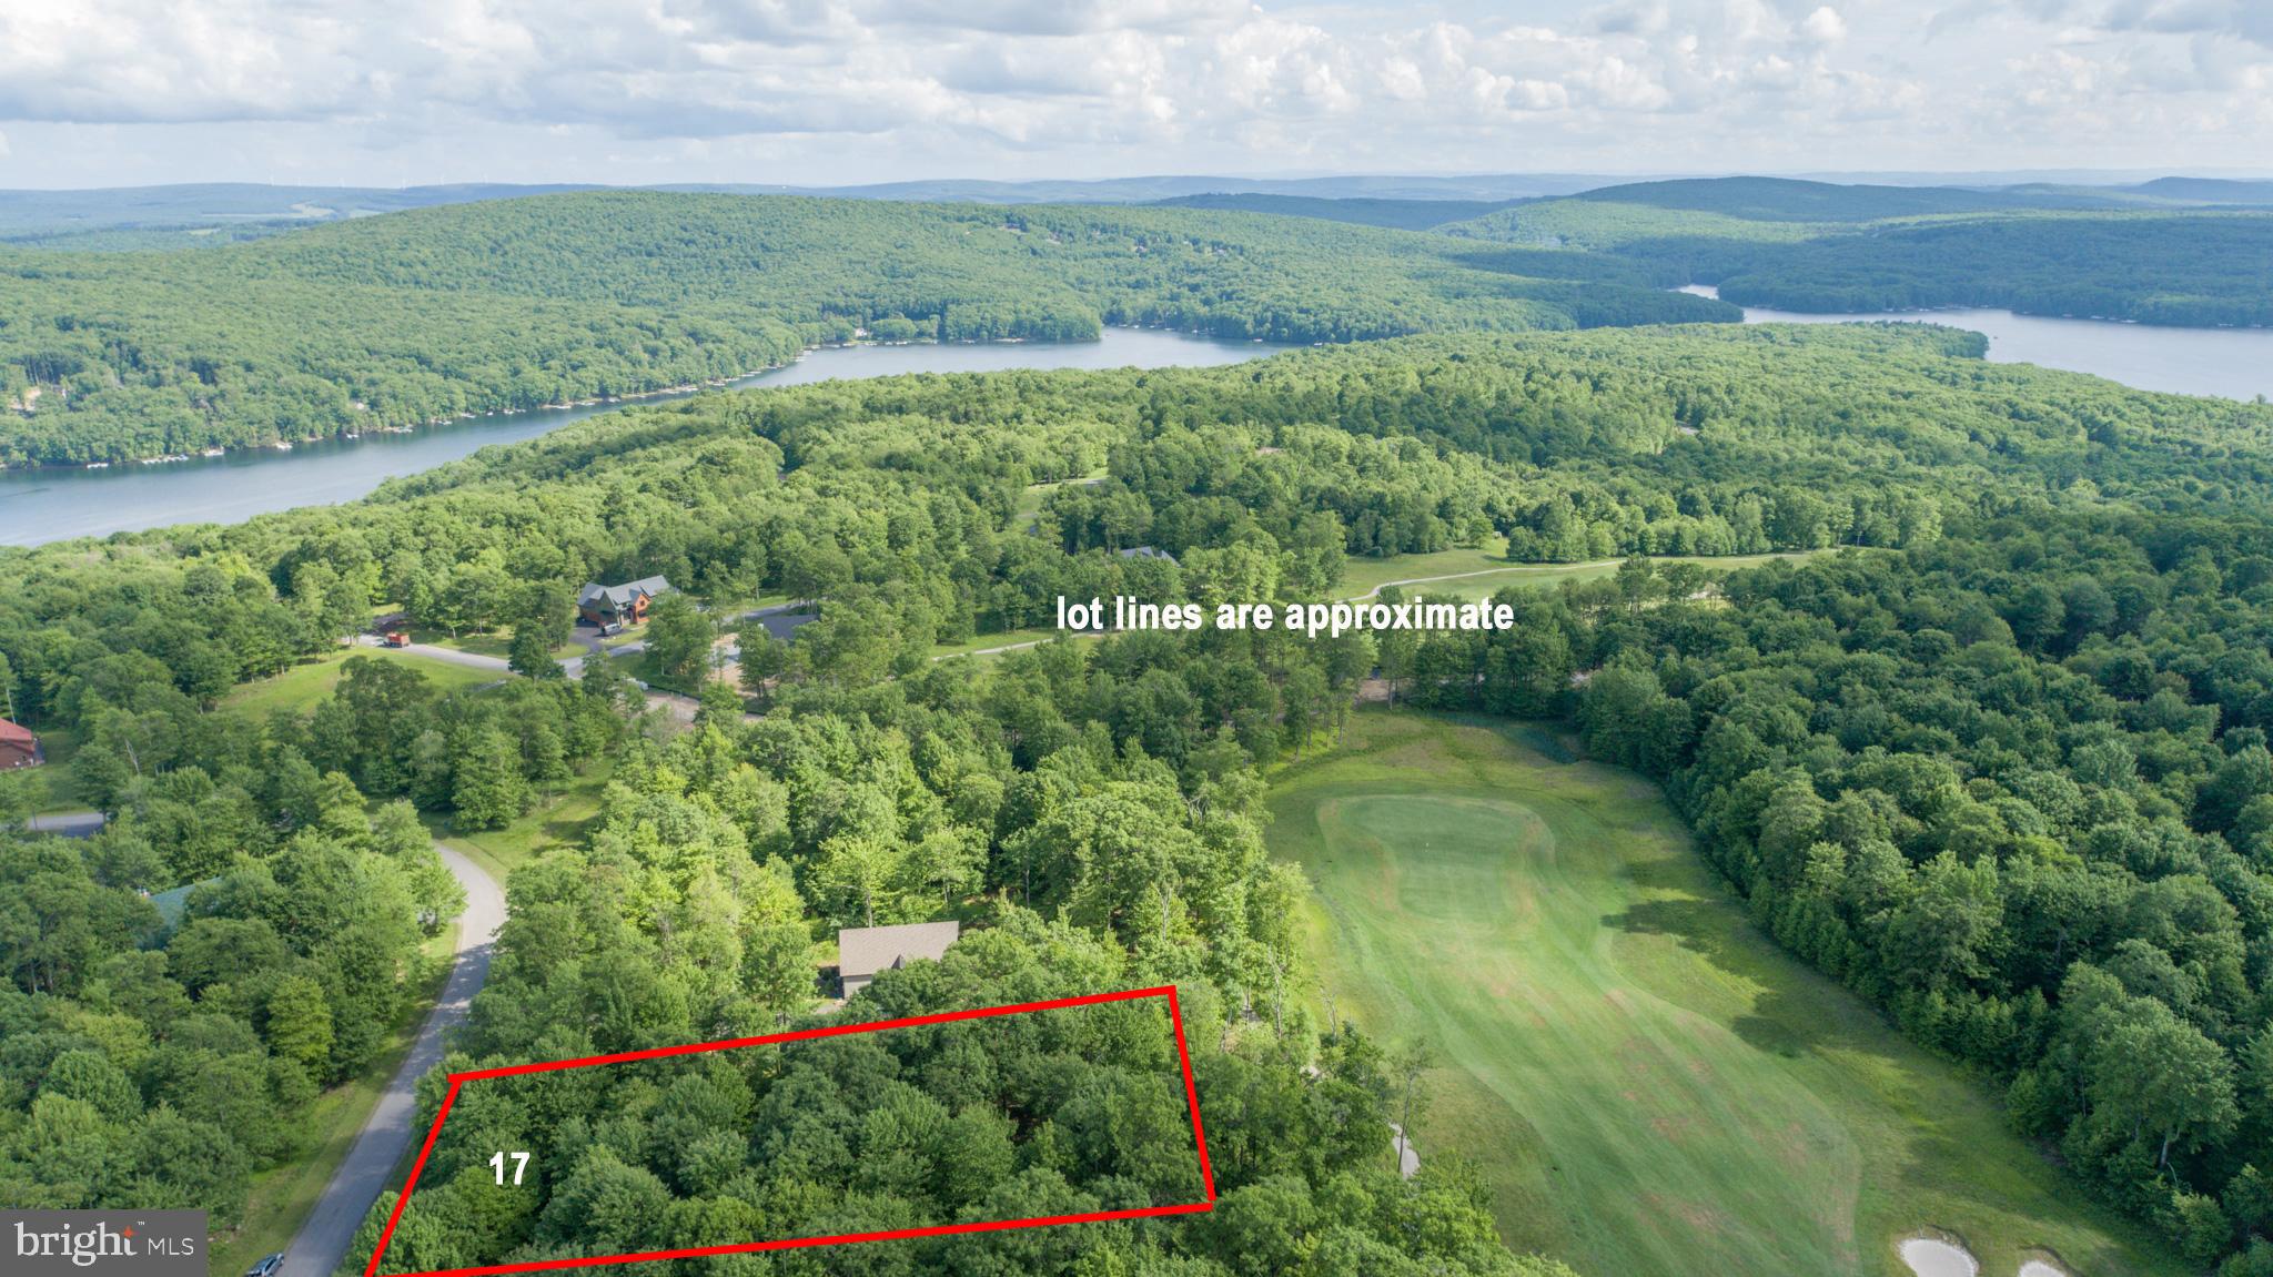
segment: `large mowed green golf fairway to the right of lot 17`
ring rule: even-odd
[[[1325,991],[1434,1048],[1416,1147],[1484,1170],[1512,1245],[1618,1277],[1893,1277],[1932,1227],[1989,1277],[2030,1250],[2187,1272],[1762,936],[1652,784],[1568,759],[1539,727],[1366,711],[1268,800]]]

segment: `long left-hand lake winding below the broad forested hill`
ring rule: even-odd
[[[1198,368],[1237,364],[1275,350],[1280,348],[1252,341],[1109,327],[1102,341],[809,350],[796,364],[743,377],[734,386],[802,386],[896,373],[993,373],[1002,368]],[[380,486],[380,479],[430,470],[491,443],[534,439],[571,420],[668,398],[677,395],[536,409],[518,416],[477,416],[411,434],[298,443],[291,452],[255,448],[166,466],[5,470],[0,473],[0,545],[41,545],[170,523],[239,523],[275,509],[345,502]]]

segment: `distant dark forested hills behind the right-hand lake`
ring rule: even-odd
[[[2057,193],[1737,177],[1609,186],[1439,229],[1643,261],[1748,307],[2273,323],[2273,214],[2091,209]]]

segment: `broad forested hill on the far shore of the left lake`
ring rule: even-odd
[[[1114,323],[1309,343],[1737,318],[1634,268],[1518,266],[1434,236],[1246,214],[630,191],[414,209],[209,252],[0,248],[0,464],[641,393],[859,332],[1089,341]]]

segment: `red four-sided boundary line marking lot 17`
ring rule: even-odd
[[[734,1048],[759,1048],[773,1043],[802,1043],[811,1038],[839,1038],[846,1034],[873,1034],[880,1029],[911,1029],[916,1025],[950,1025],[955,1020],[984,1020],[991,1016],[1016,1016],[1021,1011],[1057,1011],[1064,1007],[1096,1007],[1098,1002],[1134,1002],[1139,998],[1166,998],[1168,1000],[1168,1025],[1175,1029],[1175,1057],[1184,1068],[1184,1102],[1191,1109],[1191,1143],[1200,1154],[1200,1184],[1207,1188],[1207,1197],[1200,1202],[1177,1202],[1171,1207],[1139,1207],[1130,1211],[1089,1211],[1080,1216],[1036,1216],[1025,1220],[980,1220],[971,1225],[934,1225],[923,1229],[886,1229],[886,1232],[855,1232],[836,1236],[796,1236],[780,1241],[746,1241],[734,1245],[696,1245],[684,1250],[643,1250],[632,1254],[593,1254],[582,1259],[534,1259],[527,1263],[486,1263],[480,1268],[427,1268],[418,1272],[396,1272],[391,1277],[493,1277],[502,1272],[543,1272],[552,1268],[596,1268],[600,1263],[643,1263],[648,1259],[700,1259],[707,1254],[750,1254],[759,1250],[802,1250],[811,1245],[852,1245],[861,1241],[907,1241],[918,1236],[957,1236],[973,1232],[1007,1232],[1007,1229],[1036,1229],[1050,1225],[1098,1225],[1111,1220],[1143,1220],[1155,1216],[1196,1216],[1216,1209],[1216,1172],[1207,1163],[1207,1132],[1200,1127],[1200,1088],[1191,1082],[1191,1050],[1184,1045],[1184,1011],[1175,1002],[1175,986],[1162,984],[1155,988],[1125,988],[1121,993],[1089,993],[1082,998],[1052,998],[1048,1002],[1016,1002],[1009,1007],[977,1007],[971,1011],[939,1011],[934,1016],[907,1016],[902,1020],[871,1020],[866,1025],[825,1025],[818,1029],[796,1029],[789,1034],[764,1034],[757,1038],[725,1038],[716,1043],[686,1043],[675,1048],[652,1048],[652,1050],[630,1050],[616,1054],[589,1054],[580,1059],[552,1059],[536,1063],[511,1063],[502,1068],[475,1068],[466,1072],[450,1075],[450,1091],[441,1097],[441,1109],[434,1111],[434,1125],[427,1127],[425,1145],[418,1147],[418,1161],[411,1163],[411,1177],[402,1184],[402,1195],[396,1197],[396,1209],[386,1216],[386,1227],[380,1232],[380,1245],[370,1252],[370,1263],[364,1266],[364,1277],[377,1277],[380,1259],[386,1254],[386,1243],[396,1236],[396,1225],[402,1220],[402,1207],[409,1204],[411,1193],[418,1188],[418,1172],[425,1170],[427,1154],[434,1152],[434,1138],[441,1136],[441,1122],[450,1116],[450,1104],[457,1102],[457,1088],[466,1082],[477,1082],[482,1077],[521,1077],[525,1072],[557,1072],[564,1068],[591,1068],[598,1063],[632,1063],[641,1059],[664,1059],[675,1054],[702,1054],[714,1050]]]

